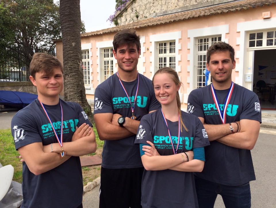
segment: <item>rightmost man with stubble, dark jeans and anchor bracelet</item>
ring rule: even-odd
[[[212,84],[193,90],[188,98],[188,112],[202,121],[210,141],[204,169],[195,173],[199,207],[214,207],[220,194],[226,208],[248,208],[249,181],[255,180],[250,150],[261,123],[259,99],[232,82],[235,51],[229,44],[213,44],[206,56]]]

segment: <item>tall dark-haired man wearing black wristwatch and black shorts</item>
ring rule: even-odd
[[[114,36],[118,71],[95,90],[94,119],[105,140],[100,208],[141,208],[143,164],[135,136],[142,116],[160,108],[151,80],[137,72],[140,38],[123,30]]]

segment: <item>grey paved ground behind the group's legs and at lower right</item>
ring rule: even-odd
[[[258,141],[251,150],[256,181],[250,182],[252,208],[274,208],[276,204],[276,129],[261,128]],[[83,195],[84,208],[99,207],[99,186]],[[220,195],[214,208],[224,208]]]

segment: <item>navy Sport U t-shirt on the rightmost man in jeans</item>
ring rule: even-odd
[[[215,90],[216,97],[223,109],[229,89]],[[211,85],[193,90],[188,97],[187,111],[204,118],[206,124],[222,124],[214,104]],[[258,96],[237,84],[226,111],[226,123],[242,119],[261,122],[261,110]],[[230,147],[218,141],[211,141],[205,148],[205,164],[197,177],[228,186],[239,186],[255,180],[250,150]]]

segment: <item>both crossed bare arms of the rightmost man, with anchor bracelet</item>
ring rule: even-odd
[[[198,118],[206,129],[209,141],[216,140],[230,147],[252,150],[259,136],[260,122],[256,120],[242,119],[237,124],[232,123],[235,132],[232,133],[229,124],[205,124],[204,118]],[[239,125],[239,128],[237,128],[237,125]],[[238,132],[237,129],[239,129]]]

